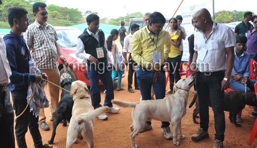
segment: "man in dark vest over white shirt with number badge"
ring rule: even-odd
[[[99,91],[99,80],[106,89],[104,106],[110,107],[108,112],[117,113],[119,108],[113,107],[111,100],[114,99],[114,85],[112,74],[109,69],[111,58],[107,53],[107,45],[102,30],[99,28],[99,16],[90,14],[86,17],[88,28],[78,38],[76,56],[87,61],[87,74],[90,81],[90,97],[94,109],[101,107],[101,95]],[[84,53],[84,51],[86,53]],[[111,64],[113,69],[113,65]],[[98,116],[104,120],[107,115],[104,113]]]

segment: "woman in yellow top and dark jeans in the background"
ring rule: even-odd
[[[180,54],[180,44],[181,44],[181,38],[182,38],[182,32],[177,26],[177,19],[171,18],[169,21],[169,25],[171,27],[171,52],[169,54],[168,59],[166,60],[168,72],[169,72],[169,78],[172,83],[180,80],[179,75],[179,67],[181,62],[181,54]],[[166,94],[170,94],[173,91],[173,84],[170,82],[170,89],[166,92]]]

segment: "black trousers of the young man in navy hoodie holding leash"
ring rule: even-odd
[[[12,97],[12,101],[15,115],[18,116],[27,106],[27,95]],[[28,126],[34,142],[34,147],[42,148],[43,143],[38,124],[39,117],[33,115],[33,111],[30,112],[30,107],[28,107],[20,117],[15,119],[15,122],[15,135],[19,148],[28,148],[25,140],[25,134],[28,131]]]

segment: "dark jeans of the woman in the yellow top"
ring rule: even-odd
[[[181,55],[178,55],[174,58],[167,58],[166,63],[168,67],[168,72],[169,72],[169,79],[172,83],[174,83],[174,78],[175,82],[180,80],[180,75],[179,75],[179,68],[180,68],[180,61],[181,61]],[[173,90],[173,84],[170,82],[170,89]]]

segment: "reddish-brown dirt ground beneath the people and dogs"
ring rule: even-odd
[[[116,41],[117,44],[119,41]],[[118,45],[119,49],[121,49],[120,44]],[[122,87],[128,89],[128,73],[122,79]],[[184,76],[182,76],[184,78]],[[117,81],[114,82],[115,88],[117,87]],[[134,89],[134,86],[132,86]],[[45,87],[47,89],[47,87]],[[169,83],[167,85],[166,90],[169,89]],[[101,104],[104,103],[104,86],[101,85],[99,87],[101,92]],[[193,87],[190,90],[188,106],[191,103],[194,94],[192,93]],[[115,99],[128,101],[128,102],[138,102],[140,99],[140,90],[134,90],[135,93],[129,93],[127,90],[125,91],[117,91],[114,90]],[[47,93],[47,90],[45,90]],[[166,97],[169,95],[166,95]],[[115,105],[114,105],[115,106]],[[182,134],[186,136],[186,139],[182,140],[178,136],[178,141],[180,142],[180,146],[174,146],[172,140],[166,140],[161,133],[161,121],[152,121],[152,130],[146,131],[144,133],[139,133],[135,138],[135,143],[139,148],[213,148],[214,146],[214,114],[212,108],[209,109],[210,112],[210,124],[209,124],[209,134],[210,137],[204,139],[200,142],[194,142],[191,140],[191,136],[198,130],[200,127],[199,124],[193,123],[192,113],[194,110],[194,106],[187,110],[186,115],[182,118]],[[225,131],[225,140],[224,140],[224,148],[249,148],[248,142],[255,124],[256,118],[252,118],[250,116],[253,108],[249,108],[248,106],[242,112],[242,127],[235,127],[233,123],[230,123],[228,114],[229,112],[225,112],[226,119],[226,131]],[[43,144],[47,144],[47,141],[50,140],[52,134],[52,122],[49,120],[48,114],[50,113],[49,109],[45,109],[46,115],[46,123],[49,125],[49,131],[43,131],[40,128],[40,132],[42,135]],[[97,117],[94,119],[93,127],[94,127],[94,141],[95,148],[131,148],[130,144],[130,128],[129,126],[132,124],[131,119],[131,108],[121,110],[114,113],[106,113],[108,116],[107,120],[100,120]],[[199,119],[197,119],[199,121]],[[15,123],[14,123],[15,124]],[[68,123],[69,126],[69,123]],[[68,126],[63,127],[62,124],[56,129],[56,136],[54,139],[54,144],[50,146],[65,148],[66,147],[66,136]],[[170,125],[171,126],[171,125]],[[26,142],[28,148],[33,147],[33,140],[29,131],[26,134]],[[256,148],[257,139],[254,140],[252,148]],[[17,144],[16,144],[16,148]],[[88,148],[86,142],[80,141],[77,144],[73,144],[73,148]]]

